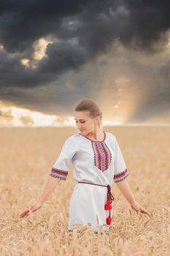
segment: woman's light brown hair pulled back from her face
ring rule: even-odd
[[[80,99],[74,105],[74,111],[89,111],[90,116],[95,118],[96,116],[100,116],[100,121],[98,123],[98,127],[101,126],[102,112],[96,102],[92,99],[84,98]]]

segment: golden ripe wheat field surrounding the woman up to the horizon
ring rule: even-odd
[[[35,203],[50,168],[76,128],[0,129],[0,255],[170,255],[170,127],[103,127],[112,132],[129,170],[128,184],[152,217],[136,214],[115,183],[109,236],[88,225],[67,232],[69,203],[76,181],[66,181],[38,211],[19,214]]]

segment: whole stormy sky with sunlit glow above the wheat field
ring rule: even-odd
[[[1,0],[0,127],[170,125],[170,1]]]

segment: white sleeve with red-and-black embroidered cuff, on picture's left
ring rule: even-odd
[[[69,173],[69,167],[72,163],[72,157],[74,157],[75,147],[73,141],[69,138],[63,144],[61,153],[58,159],[55,161],[49,175],[54,178],[60,178],[66,181],[67,175]]]

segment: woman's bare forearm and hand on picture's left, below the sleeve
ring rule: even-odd
[[[49,176],[47,178],[47,181],[45,182],[45,185],[42,189],[41,194],[39,195],[38,199],[36,200],[36,203],[34,203],[33,206],[30,206],[25,211],[23,211],[20,214],[20,218],[27,217],[28,214],[30,214],[30,212],[34,212],[34,211],[38,210],[39,208],[41,208],[42,203],[44,203],[45,200],[47,200],[47,198],[50,196],[50,194],[53,192],[53,190],[55,189],[55,187],[57,186],[57,184],[60,181],[61,181],[61,179],[59,179],[59,178],[54,178],[52,176]]]

